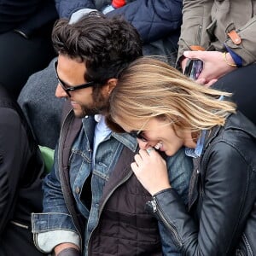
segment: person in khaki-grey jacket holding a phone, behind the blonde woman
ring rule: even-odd
[[[256,2],[183,1],[177,67],[203,61],[200,84],[233,93],[237,108],[256,124]]]

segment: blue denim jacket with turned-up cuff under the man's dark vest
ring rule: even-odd
[[[87,255],[91,233],[99,221],[99,212],[101,212],[99,201],[102,198],[102,190],[119,160],[122,148],[129,148],[135,153],[137,141],[129,134],[111,133],[99,144],[96,149],[95,166],[91,172],[92,200],[86,202],[83,200],[82,188],[85,187],[87,177],[90,176],[96,121],[93,116],[82,119],[83,127],[77,128],[78,136],[73,140],[72,149],[67,154],[65,150],[61,150],[63,148],[60,148],[60,145],[63,137],[67,138],[68,128],[73,125],[69,120],[72,116],[73,111],[67,115],[62,125],[60,143],[55,149],[55,165],[44,180],[44,212],[32,214],[32,232],[36,246],[46,253],[52,251],[61,242],[73,242],[82,248],[84,255]],[[60,152],[63,155],[60,155]],[[63,185],[64,179],[61,172],[65,172],[66,166],[62,166],[62,157],[63,159],[68,157],[68,168],[71,170],[68,177],[69,188]],[[172,187],[187,202],[189,177],[192,172],[191,160],[185,156],[182,149],[176,156],[167,158],[167,166]],[[125,180],[121,180],[120,183],[125,183]],[[87,207],[89,204],[90,209]],[[78,219],[82,221],[75,221],[72,207],[75,208]],[[163,253],[167,254],[167,252],[173,252],[173,245],[172,241],[167,240],[168,236],[165,232],[166,230],[160,226]]]

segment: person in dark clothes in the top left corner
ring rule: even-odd
[[[54,0],[0,3],[0,84],[16,100],[32,73],[55,56],[50,35],[58,15]]]

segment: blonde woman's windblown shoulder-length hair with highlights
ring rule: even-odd
[[[208,130],[224,125],[236,112],[236,105],[220,96],[230,94],[196,84],[163,61],[142,57],[120,74],[110,96],[109,118],[135,131],[153,117],[169,120],[174,129]]]

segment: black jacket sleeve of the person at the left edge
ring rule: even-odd
[[[0,108],[0,236],[15,214],[18,188],[30,148],[19,114]]]

